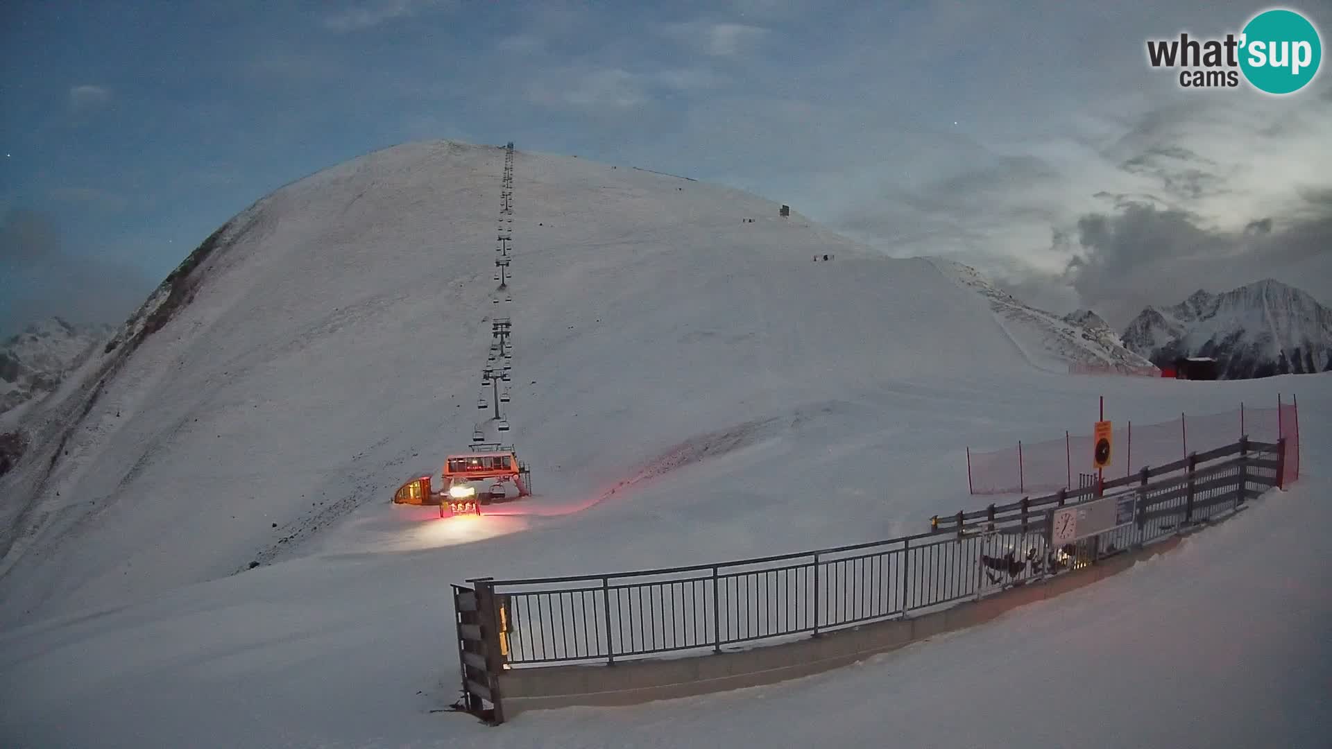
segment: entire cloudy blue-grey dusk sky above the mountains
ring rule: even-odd
[[[1116,325],[1265,276],[1332,303],[1332,73],[1183,91],[1146,39],[1267,5],[1118,5],[8,0],[0,332],[123,317],[262,195],[436,137],[742,187]]]

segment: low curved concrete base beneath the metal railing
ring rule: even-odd
[[[506,717],[571,705],[637,705],[774,684],[846,666],[936,634],[984,624],[1014,608],[1043,601],[1128,569],[1175,548],[1172,536],[1058,577],[914,617],[822,633],[794,642],[706,656],[509,669],[500,676]]]

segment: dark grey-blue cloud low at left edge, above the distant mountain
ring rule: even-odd
[[[119,324],[152,288],[137,267],[65,251],[45,213],[11,208],[0,223],[0,332],[52,315]]]

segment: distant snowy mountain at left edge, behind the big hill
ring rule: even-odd
[[[0,343],[0,414],[55,390],[69,369],[111,337],[112,329],[51,317]],[[0,424],[13,424],[16,417],[11,414]]]

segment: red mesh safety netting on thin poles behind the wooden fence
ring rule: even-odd
[[[1134,476],[1143,468],[1187,458],[1192,452],[1207,452],[1240,437],[1276,442],[1285,438],[1289,454],[1283,485],[1300,477],[1300,409],[1297,402],[1275,408],[1245,408],[1207,416],[1179,418],[1135,426],[1132,421],[1114,429],[1114,468],[1106,478]],[[1011,448],[978,452],[967,448],[967,490],[972,494],[1020,494],[1056,492],[1079,485],[1079,474],[1092,470],[1091,434],[1027,442]],[[1120,457],[1123,456],[1123,457]]]

